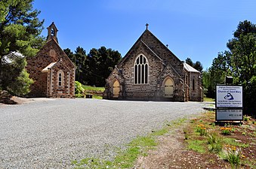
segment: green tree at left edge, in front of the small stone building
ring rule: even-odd
[[[29,86],[31,80],[23,80],[28,77],[24,70],[26,61],[14,61],[14,64],[4,65],[3,56],[12,51],[19,51],[24,56],[35,56],[39,48],[44,44],[44,38],[40,36],[42,24],[38,15],[40,11],[32,9],[32,0],[5,0],[0,2],[0,88],[16,94],[25,94],[23,86]],[[12,72],[14,71],[14,72]],[[28,77],[29,78],[29,77]],[[7,83],[13,79],[12,83]],[[23,81],[22,83],[20,83]]]

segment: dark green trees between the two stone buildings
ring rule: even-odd
[[[76,80],[91,86],[104,86],[115,65],[121,59],[121,54],[106,47],[91,49],[88,55],[82,47],[77,47],[75,53],[65,49],[64,52],[76,65]]]

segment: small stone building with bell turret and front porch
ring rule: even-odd
[[[76,67],[60,48],[54,23],[47,29],[46,44],[36,56],[27,58],[26,70],[34,80],[29,96],[75,98]]]

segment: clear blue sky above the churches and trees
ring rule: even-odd
[[[128,52],[146,29],[180,59],[211,66],[227,50],[240,21],[256,23],[254,0],[35,0],[45,19],[42,35],[54,22],[63,49],[107,47]]]

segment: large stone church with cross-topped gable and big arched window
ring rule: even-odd
[[[106,79],[106,99],[202,101],[199,71],[147,29]]]

